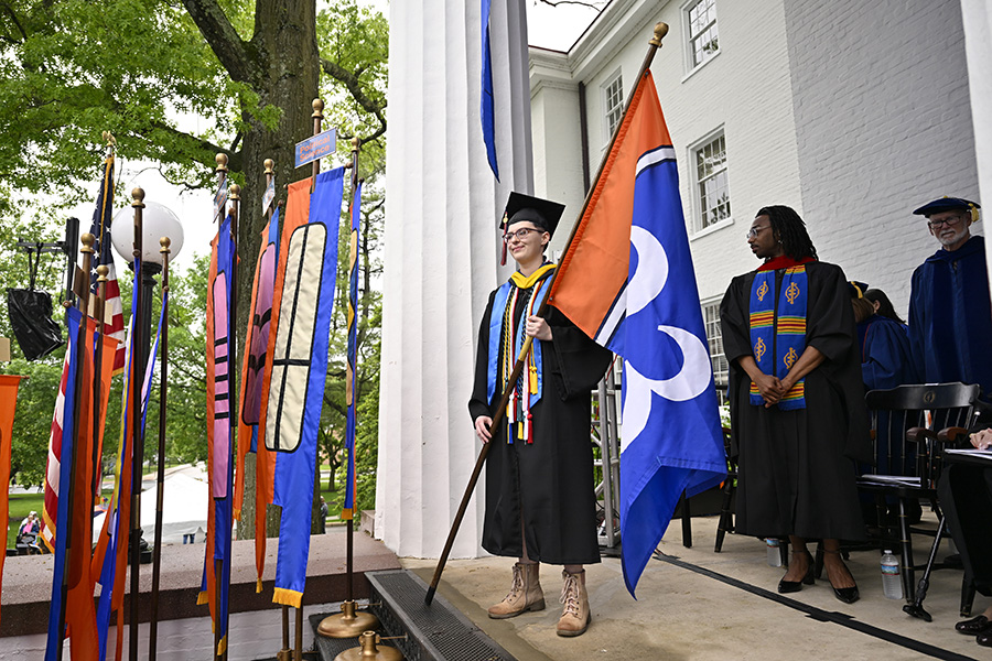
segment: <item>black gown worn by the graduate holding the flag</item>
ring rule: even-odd
[[[503,394],[497,379],[493,401],[486,401],[489,315],[495,294],[489,295],[478,330],[475,383],[468,402],[473,422],[479,415],[492,418]],[[527,555],[531,560],[590,564],[600,562],[591,391],[606,373],[613,354],[590,339],[561,312],[552,306],[547,310],[553,339],[541,343],[543,391],[531,408],[533,443],[516,440],[507,444],[505,419],[493,430],[493,447],[486,458],[483,548],[494,555],[520,557],[522,510]],[[519,314],[514,323],[518,321]]]

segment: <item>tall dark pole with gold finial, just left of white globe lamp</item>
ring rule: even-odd
[[[131,207],[134,209],[134,259],[131,262],[134,269],[136,281],[140,282],[141,278],[141,254],[142,254],[142,236],[144,235],[144,220],[142,209],[144,208],[144,191],[134,188],[131,191],[131,197],[134,202]],[[144,288],[136,286],[131,295],[134,299],[134,312],[142,315],[144,310]],[[141,476],[144,466],[144,430],[142,429],[142,387],[144,384],[144,372],[147,368],[148,356],[144,351],[144,334],[145,328],[141,319],[131,318],[131,337],[133,356],[131,356],[131,371],[134,378],[131,383],[131,534],[128,542],[131,544],[131,592],[130,608],[128,609],[128,652],[131,661],[138,661],[138,602],[140,600],[140,585],[138,583],[141,566]],[[120,624],[118,624],[120,626]]]

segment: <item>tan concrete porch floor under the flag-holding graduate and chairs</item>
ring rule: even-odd
[[[713,552],[716,519],[693,519],[692,528],[692,549],[682,546],[679,522],[669,528],[660,545],[668,561],[648,563],[637,600],[624,587],[619,560],[604,559],[587,567],[593,622],[579,638],[560,638],[554,632],[561,613],[561,578],[560,570],[552,566],[542,567],[548,608],[540,613],[508,620],[487,618],[486,607],[509,588],[509,559],[451,561],[439,594],[520,661],[992,660],[992,648],[979,647],[973,637],[953,630],[961,619],[961,571],[934,573],[925,603],[934,621],[927,624],[905,615],[903,602],[882,595],[875,551],[852,553],[849,566],[861,600],[847,605],[834,598],[826,578],[804,586],[800,593],[778,595],[784,570],[768,566],[761,540],[727,535],[718,554]],[[917,539],[920,562],[929,544],[925,538]],[[433,561],[402,563],[430,582]],[[989,605],[990,599],[978,595],[974,613]]]

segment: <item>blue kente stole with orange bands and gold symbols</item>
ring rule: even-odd
[[[785,270],[775,314],[775,271],[758,271],[751,286],[751,350],[758,368],[784,379],[806,349],[806,266]],[[778,402],[783,411],[806,408],[806,383],[799,379]],[[757,384],[751,382],[751,403],[763,407]]]

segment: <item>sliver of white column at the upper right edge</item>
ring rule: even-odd
[[[968,58],[968,90],[971,95],[971,121],[974,123],[974,155],[978,161],[982,220],[992,218],[992,4],[989,0],[961,0],[964,23],[964,55]],[[992,231],[983,232],[992,241]],[[985,246],[989,283],[992,286],[992,246]]]

